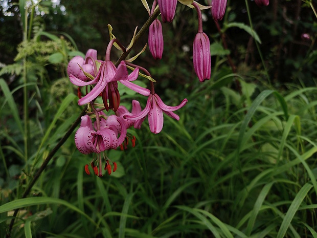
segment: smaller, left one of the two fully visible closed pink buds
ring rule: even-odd
[[[162,59],[164,40],[160,20],[153,21],[149,28],[149,48],[154,59]]]

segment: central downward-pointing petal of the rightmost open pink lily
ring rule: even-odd
[[[148,114],[150,131],[154,134],[160,133],[163,128],[164,117],[163,111],[156,101],[153,99],[152,107]]]

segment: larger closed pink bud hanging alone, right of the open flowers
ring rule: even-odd
[[[193,63],[200,82],[210,79],[210,41],[206,33],[197,33],[194,39]]]

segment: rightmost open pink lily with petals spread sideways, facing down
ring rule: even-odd
[[[168,106],[166,105],[159,95],[151,94],[148,97],[145,109],[140,112],[138,115],[124,115],[123,118],[128,120],[144,120],[146,116],[148,116],[149,126],[152,133],[157,134],[162,131],[164,118],[163,113],[168,115],[171,118],[179,120],[179,116],[173,113],[183,107],[188,100],[185,98],[178,106]],[[139,124],[137,125],[139,126]],[[141,126],[141,124],[140,124]],[[136,128],[135,124],[134,127]]]

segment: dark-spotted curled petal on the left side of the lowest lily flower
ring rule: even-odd
[[[85,155],[93,152],[92,135],[90,134],[90,131],[88,126],[81,126],[75,134],[76,147],[80,153]]]

